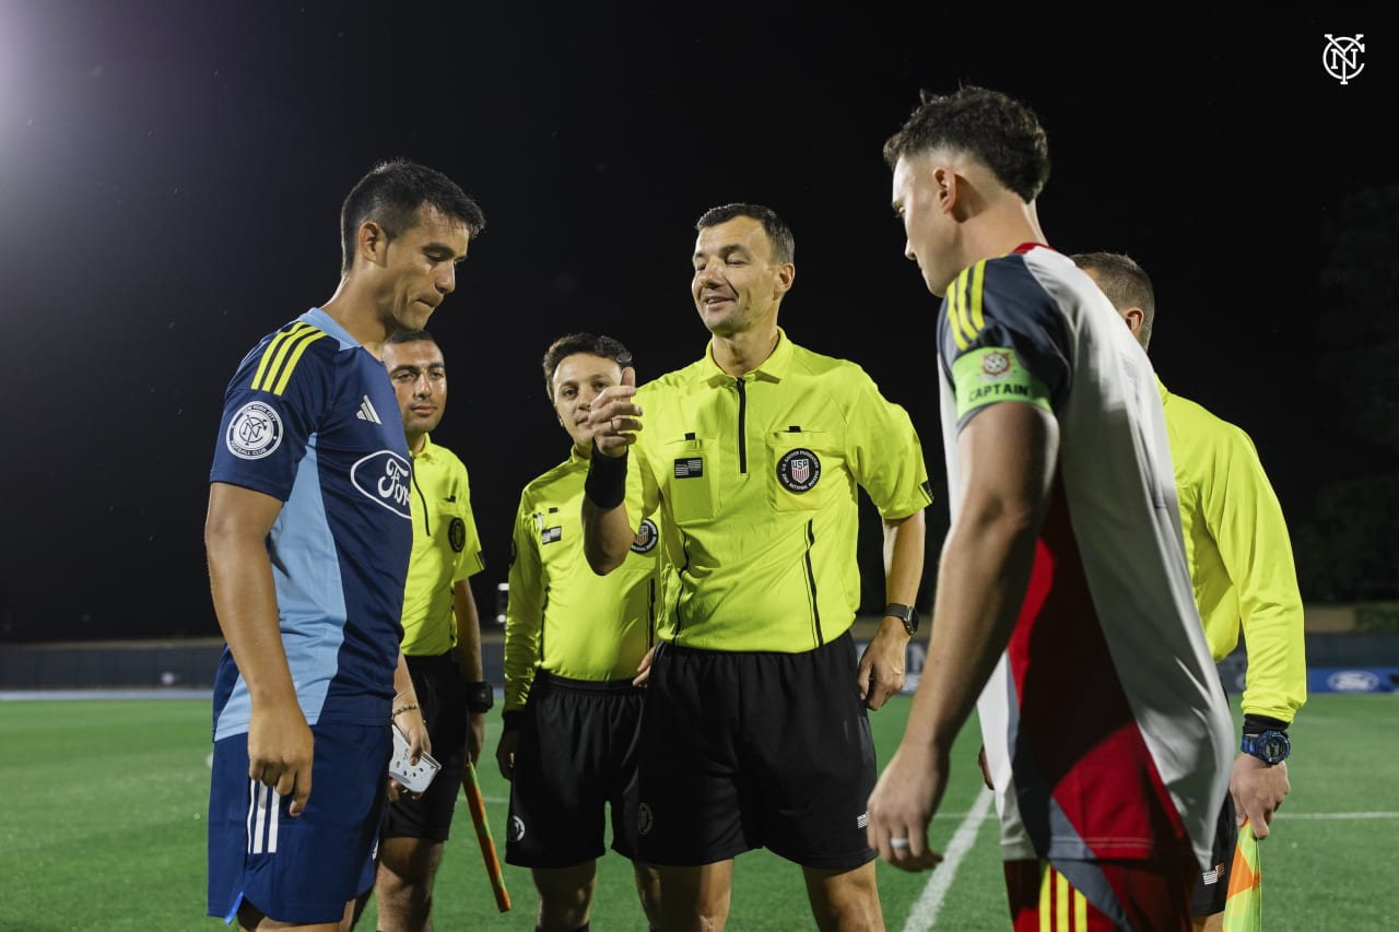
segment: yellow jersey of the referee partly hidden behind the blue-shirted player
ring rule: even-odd
[[[446,654],[456,647],[452,586],[485,568],[471,518],[466,466],[446,446],[422,438],[413,458],[413,557],[403,588],[403,652]]]

